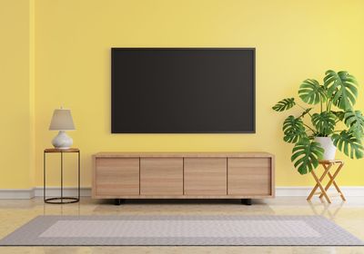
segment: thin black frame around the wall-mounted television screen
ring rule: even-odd
[[[244,50],[244,51],[251,51],[253,54],[252,59],[252,66],[253,66],[253,87],[252,87],[252,97],[253,97],[253,103],[252,103],[252,131],[247,132],[114,132],[113,129],[113,90],[114,90],[114,78],[113,73],[114,70],[114,51],[117,50],[153,50],[153,49],[171,49],[171,50]],[[254,134],[257,133],[257,126],[256,126],[256,48],[255,47],[111,47],[111,133],[112,134]]]

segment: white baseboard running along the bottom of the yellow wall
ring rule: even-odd
[[[346,197],[364,197],[364,186],[343,186],[340,187]],[[307,197],[312,186],[282,186],[276,188],[277,197]],[[60,195],[59,187],[47,187],[47,197],[57,197]],[[65,187],[64,196],[76,196],[77,188]],[[82,187],[81,197],[90,197],[91,188]],[[28,200],[34,197],[43,197],[43,187],[33,189],[0,189],[0,200]]]

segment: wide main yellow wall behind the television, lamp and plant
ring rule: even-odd
[[[297,96],[301,81],[322,79],[329,68],[348,70],[364,83],[363,9],[360,0],[35,0],[35,185],[43,183],[43,149],[56,135],[47,128],[60,104],[72,109],[76,122],[70,134],[82,151],[84,186],[97,151],[270,151],[277,155],[278,186],[312,184],[293,168],[292,146],[282,141],[288,114],[271,106]],[[256,47],[257,133],[111,134],[110,47],[116,46]],[[9,81],[2,86],[15,93]],[[362,87],[360,93],[357,108],[363,111]],[[15,123],[8,129],[13,136],[23,133]],[[50,160],[50,185],[57,184],[56,160]],[[346,162],[340,184],[364,185],[363,161]]]

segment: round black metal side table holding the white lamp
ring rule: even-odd
[[[46,198],[45,195],[45,175],[46,175],[46,171],[45,171],[45,154],[46,153],[50,153],[50,152],[58,152],[61,154],[61,197],[56,197],[56,198]],[[77,192],[77,197],[64,197],[63,196],[63,154],[65,152],[77,152],[78,153],[78,192]],[[67,204],[67,203],[76,203],[80,200],[80,151],[77,148],[69,148],[69,149],[57,149],[57,148],[47,148],[44,151],[43,154],[43,165],[44,165],[44,171],[43,171],[43,194],[44,194],[44,200],[45,203],[49,203],[49,204]]]

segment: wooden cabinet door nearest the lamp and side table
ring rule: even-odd
[[[97,158],[96,196],[139,195],[138,158]]]

